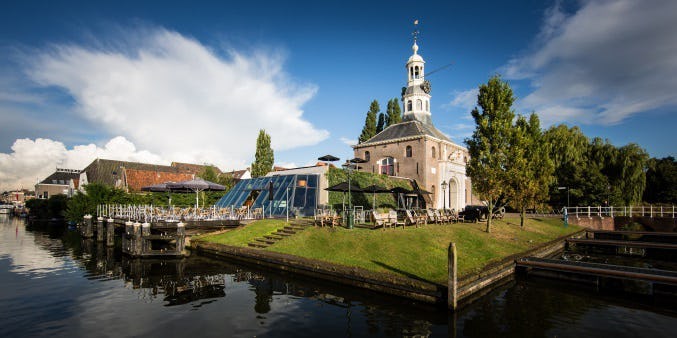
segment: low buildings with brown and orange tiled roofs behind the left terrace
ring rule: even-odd
[[[180,182],[195,178],[206,166],[172,162],[158,165],[139,162],[96,159],[80,173],[80,186],[100,183],[128,192],[141,191],[142,187],[164,182]],[[214,167],[217,174],[219,168]]]

